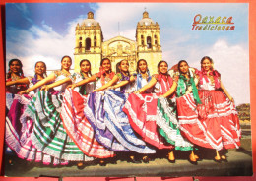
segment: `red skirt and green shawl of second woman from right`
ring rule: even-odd
[[[179,121],[179,128],[181,134],[189,140],[191,143],[211,148],[209,142],[206,139],[206,129],[202,122],[198,119],[197,106],[202,104],[198,90],[195,86],[196,75],[194,72],[190,72],[190,78],[187,79],[183,76],[179,76],[177,93],[177,114]],[[192,92],[191,92],[192,91]]]

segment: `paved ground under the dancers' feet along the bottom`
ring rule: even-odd
[[[146,163],[131,163],[123,156],[117,161],[109,160],[105,166],[96,161],[78,169],[76,164],[66,166],[50,166],[40,163],[17,159],[15,165],[5,164],[5,175],[10,177],[180,177],[180,176],[251,176],[251,132],[250,127],[243,126],[241,147],[238,150],[228,150],[228,162],[217,163],[213,161],[215,151],[199,148],[198,155],[202,161],[197,165],[188,162],[189,151],[177,151],[176,162],[169,163],[166,159],[167,151],[159,151],[154,160]]]

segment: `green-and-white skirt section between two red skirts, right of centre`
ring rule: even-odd
[[[180,133],[179,123],[176,117],[175,99],[160,97],[158,99],[158,119],[156,121],[159,132],[168,143],[175,147],[175,150],[191,151],[193,145],[184,139]]]

